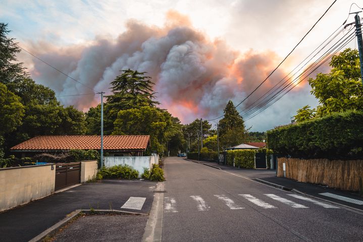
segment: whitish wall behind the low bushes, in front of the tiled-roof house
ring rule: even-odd
[[[159,164],[159,155],[151,156],[105,156],[105,166],[129,165],[139,171],[139,177],[144,173],[144,168],[151,168],[152,164]]]

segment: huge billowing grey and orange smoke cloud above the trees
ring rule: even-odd
[[[147,72],[155,82],[161,107],[183,123],[220,115],[230,99],[238,103],[274,69],[277,59],[273,52],[250,50],[241,54],[222,40],[209,40],[176,12],[168,14],[163,28],[129,21],[127,31],[117,39],[99,37],[87,45],[62,49],[33,43],[31,50],[79,82],[106,94],[120,70]],[[54,89],[58,96],[92,93],[37,59],[33,59],[33,65],[30,71],[34,80]],[[284,76],[277,72],[257,94],[266,92]],[[81,110],[99,103],[98,95],[59,99]],[[251,102],[253,98],[244,105]]]

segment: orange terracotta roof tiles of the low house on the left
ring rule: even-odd
[[[150,140],[148,135],[103,136],[103,150],[144,151]],[[99,150],[100,136],[36,136],[10,150]]]

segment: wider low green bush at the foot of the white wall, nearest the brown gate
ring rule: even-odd
[[[96,175],[97,179],[102,178],[124,178],[124,179],[136,179],[139,176],[139,172],[133,169],[129,165],[115,165],[112,167],[101,168]]]

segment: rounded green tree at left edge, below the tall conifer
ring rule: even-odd
[[[10,133],[22,124],[24,106],[20,98],[0,83],[0,135]]]

